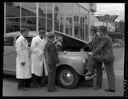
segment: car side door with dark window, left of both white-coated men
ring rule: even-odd
[[[4,37],[4,59],[3,69],[6,71],[16,71],[16,51],[15,39],[13,36]]]

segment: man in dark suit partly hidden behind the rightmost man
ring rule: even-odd
[[[90,51],[94,51],[96,49],[96,47],[99,45],[100,41],[101,41],[101,37],[100,35],[97,33],[97,28],[92,26],[90,29],[90,35],[93,37],[92,41],[88,44]],[[101,54],[101,52],[99,52],[98,54]],[[89,63],[91,62],[91,60],[89,59],[88,61]],[[100,89],[102,88],[102,62],[98,62],[95,61],[94,66],[90,67],[89,63],[86,67],[87,70],[93,69],[93,67],[95,66],[96,68],[96,86],[94,87],[94,89]],[[86,74],[88,75],[88,74]],[[86,79],[86,78],[85,78]]]

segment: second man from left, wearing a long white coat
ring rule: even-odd
[[[41,78],[43,74],[43,63],[44,63],[44,44],[43,38],[45,32],[43,30],[39,31],[39,35],[32,39],[31,43],[31,71],[32,71],[32,82],[33,86],[41,88]]]

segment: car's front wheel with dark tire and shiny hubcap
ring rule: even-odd
[[[64,88],[75,88],[79,82],[79,75],[70,67],[62,67],[57,72],[57,83]]]

